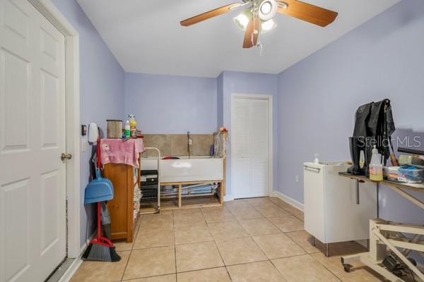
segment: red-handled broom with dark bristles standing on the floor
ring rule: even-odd
[[[98,170],[100,170],[100,137],[98,137],[98,146],[97,146],[97,164]],[[112,242],[102,237],[101,234],[101,207],[100,202],[97,203],[98,208],[98,236],[97,238],[90,241],[90,245],[88,245],[86,252],[84,252],[82,259],[88,260],[98,260],[102,262],[119,262],[121,257],[117,254],[117,251],[114,249],[114,245]]]

